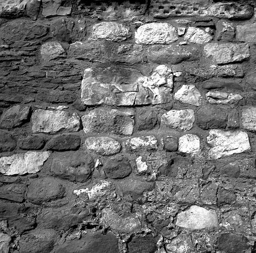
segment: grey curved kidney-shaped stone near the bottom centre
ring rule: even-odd
[[[134,233],[141,229],[141,222],[137,215],[130,213],[129,216],[122,217],[115,211],[104,208],[102,210],[102,219],[113,230],[121,233]]]

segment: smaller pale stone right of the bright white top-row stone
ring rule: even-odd
[[[189,27],[184,40],[191,43],[204,44],[211,41],[212,37],[201,28]]]

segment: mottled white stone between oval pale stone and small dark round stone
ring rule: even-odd
[[[134,137],[123,143],[129,152],[157,149],[157,140],[154,135]]]

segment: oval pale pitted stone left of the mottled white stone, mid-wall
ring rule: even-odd
[[[121,145],[110,137],[88,137],[85,147],[103,156],[110,156],[120,152]]]

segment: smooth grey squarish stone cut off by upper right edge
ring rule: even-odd
[[[236,40],[240,42],[256,42],[256,23],[238,25]]]

